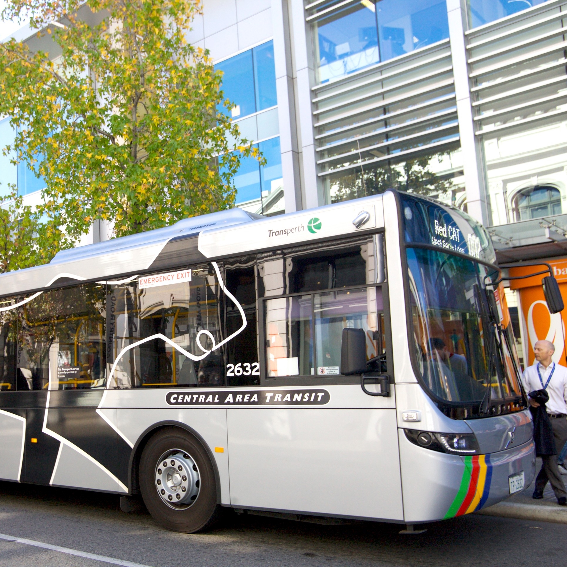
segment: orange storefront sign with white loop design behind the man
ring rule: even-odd
[[[549,261],[553,269],[563,302],[567,306],[567,259]],[[542,266],[521,266],[510,268],[510,276],[527,276],[534,272],[541,272],[545,269]],[[534,345],[537,341],[545,339],[555,345],[553,360],[565,365],[565,323],[567,322],[567,309],[561,313],[552,315],[549,313],[541,278],[548,273],[526,278],[525,280],[510,280],[510,289],[519,290],[520,307],[523,316],[524,328],[524,357],[527,356],[527,364],[534,363]]]

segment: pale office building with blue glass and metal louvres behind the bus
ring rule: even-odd
[[[394,187],[466,210],[501,262],[567,257],[567,0],[202,6],[188,40],[266,160],[243,160],[238,206],[273,215]],[[41,181],[0,159],[0,180],[33,194]]]

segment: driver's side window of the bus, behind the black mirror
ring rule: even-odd
[[[345,327],[365,332],[367,371],[386,373],[382,235],[273,252],[258,271],[268,378],[340,375]]]

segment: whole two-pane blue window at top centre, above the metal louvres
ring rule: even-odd
[[[341,6],[341,3],[338,4]],[[315,19],[319,83],[409,53],[449,36],[439,0],[362,0]]]

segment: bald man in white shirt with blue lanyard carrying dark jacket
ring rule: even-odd
[[[534,346],[535,362],[524,370],[522,383],[526,393],[545,390],[549,401],[545,404],[553,426],[553,438],[557,454],[567,442],[567,368],[552,361],[555,346],[550,341],[538,341]],[[538,403],[528,396],[530,405],[538,407]],[[543,466],[535,479],[534,498],[543,498],[543,490],[547,481],[551,483],[553,492],[560,506],[567,506],[567,491],[557,467],[556,455],[542,455]]]

